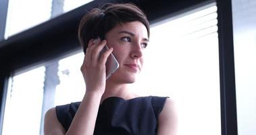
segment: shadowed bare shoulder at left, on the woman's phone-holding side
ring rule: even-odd
[[[44,134],[45,135],[63,135],[65,134],[65,130],[63,126],[57,120],[57,115],[55,111],[55,107],[49,109],[47,113],[45,113],[45,121],[44,121]]]

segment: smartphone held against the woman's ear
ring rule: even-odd
[[[100,53],[100,57],[102,53],[107,51],[109,49],[107,45],[105,45]],[[108,79],[116,70],[119,68],[119,63],[116,60],[116,57],[113,55],[113,53],[110,53],[109,57],[107,58],[106,62],[106,79]]]

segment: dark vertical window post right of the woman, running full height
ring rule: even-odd
[[[232,0],[217,0],[222,134],[237,135]]]

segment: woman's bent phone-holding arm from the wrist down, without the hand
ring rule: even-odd
[[[45,114],[44,121],[44,134],[45,135],[63,135],[63,134],[93,134],[95,129],[95,121],[101,101],[101,94],[88,94],[84,95],[84,99],[80,103],[78,111],[72,120],[72,124],[65,131],[63,126],[59,123],[56,115],[55,107],[49,109]]]

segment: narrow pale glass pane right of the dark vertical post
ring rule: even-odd
[[[239,135],[256,133],[256,1],[232,0]]]

